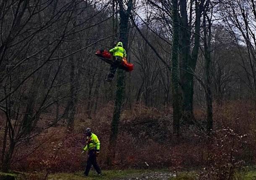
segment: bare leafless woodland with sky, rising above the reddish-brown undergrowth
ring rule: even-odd
[[[255,124],[255,33],[253,0],[0,0],[2,170],[49,129],[97,129],[104,114],[108,165],[129,111],[135,122],[149,109],[167,118],[170,128],[157,131],[177,139],[222,127],[215,107],[236,104]],[[109,65],[94,53],[118,41],[135,68],[108,83]]]

